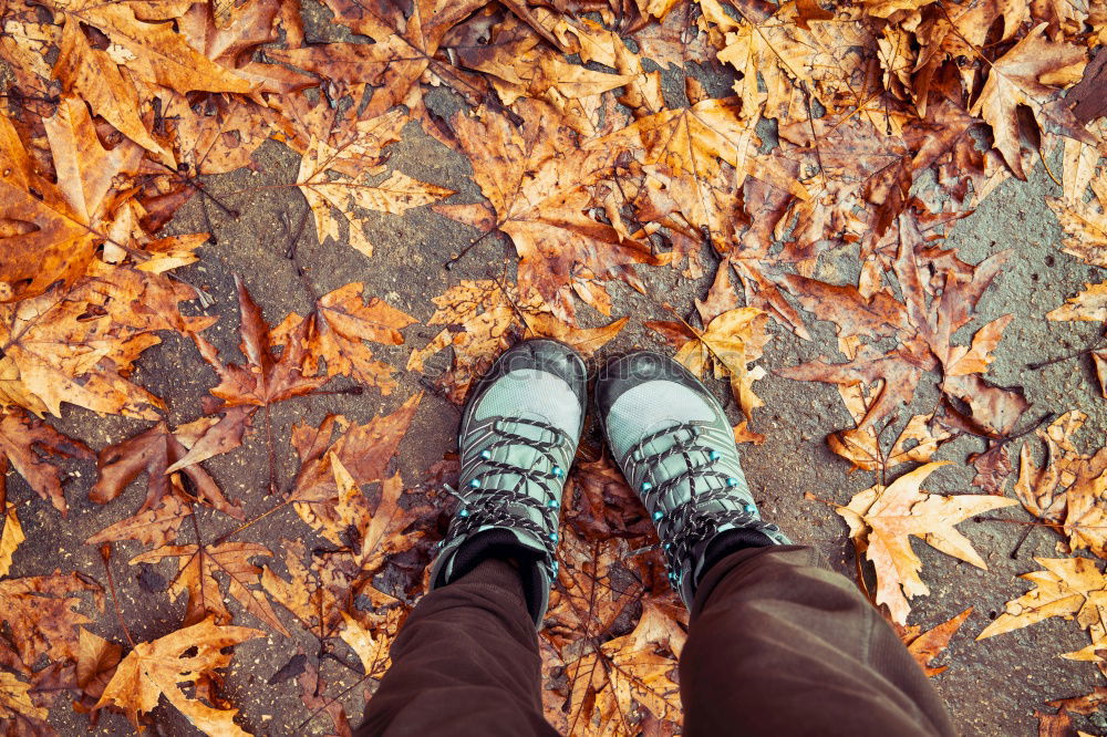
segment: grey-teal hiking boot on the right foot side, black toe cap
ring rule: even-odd
[[[658,527],[685,605],[731,550],[789,543],[757,512],[722,405],[684,366],[631,353],[607,364],[594,391],[608,447]]]

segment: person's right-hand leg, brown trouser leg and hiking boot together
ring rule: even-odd
[[[633,353],[608,364],[596,403],[692,611],[680,665],[685,734],[953,734],[877,611],[761,518],[726,413],[695,376]]]

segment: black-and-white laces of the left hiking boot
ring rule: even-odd
[[[532,438],[513,433],[503,427],[501,423],[528,425],[540,430],[540,435]],[[466,487],[457,490],[449,489],[451,494],[461,499],[464,505],[454,518],[452,537],[470,534],[485,526],[526,530],[546,548],[549,560],[552,561],[552,574],[556,575],[558,565],[555,553],[558,541],[558,510],[561,501],[558,492],[552,488],[552,484],[565,478],[566,471],[558,466],[558,459],[552,450],[568,443],[569,436],[552,425],[523,417],[496,417],[493,421],[493,432],[498,437],[480,451],[484,468],[469,480]],[[549,434],[550,439],[545,439],[547,434]],[[536,458],[535,463],[528,467],[493,458],[497,448],[509,446],[530,448],[538,453],[539,458]],[[546,461],[545,466],[549,470],[539,468],[542,465],[538,463],[540,459]],[[513,488],[485,486],[489,478],[503,476],[517,476],[518,480]],[[536,499],[527,494],[528,482],[535,484],[544,491],[544,499]],[[544,518],[546,528],[529,517],[509,511],[509,505],[534,509]]]

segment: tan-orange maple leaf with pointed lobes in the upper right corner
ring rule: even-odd
[[[1094,143],[1059,97],[1054,85],[1067,85],[1080,79],[1087,61],[1085,50],[1075,44],[1053,42],[1041,23],[1023,37],[1007,53],[991,64],[987,82],[971,112],[992,126],[995,146],[1020,179],[1025,179],[1021,160],[1017,107],[1025,105],[1037,124],[1048,133]]]

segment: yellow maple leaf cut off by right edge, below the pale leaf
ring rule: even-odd
[[[1044,571],[1022,577],[1036,589],[1007,602],[1006,611],[976,635],[976,640],[993,637],[1035,624],[1051,616],[1076,619],[1092,636],[1087,651],[1067,653],[1070,660],[1095,660],[1094,650],[1103,648],[1107,640],[1107,612],[1104,611],[1104,579],[1095,561],[1087,558],[1035,558]]]

